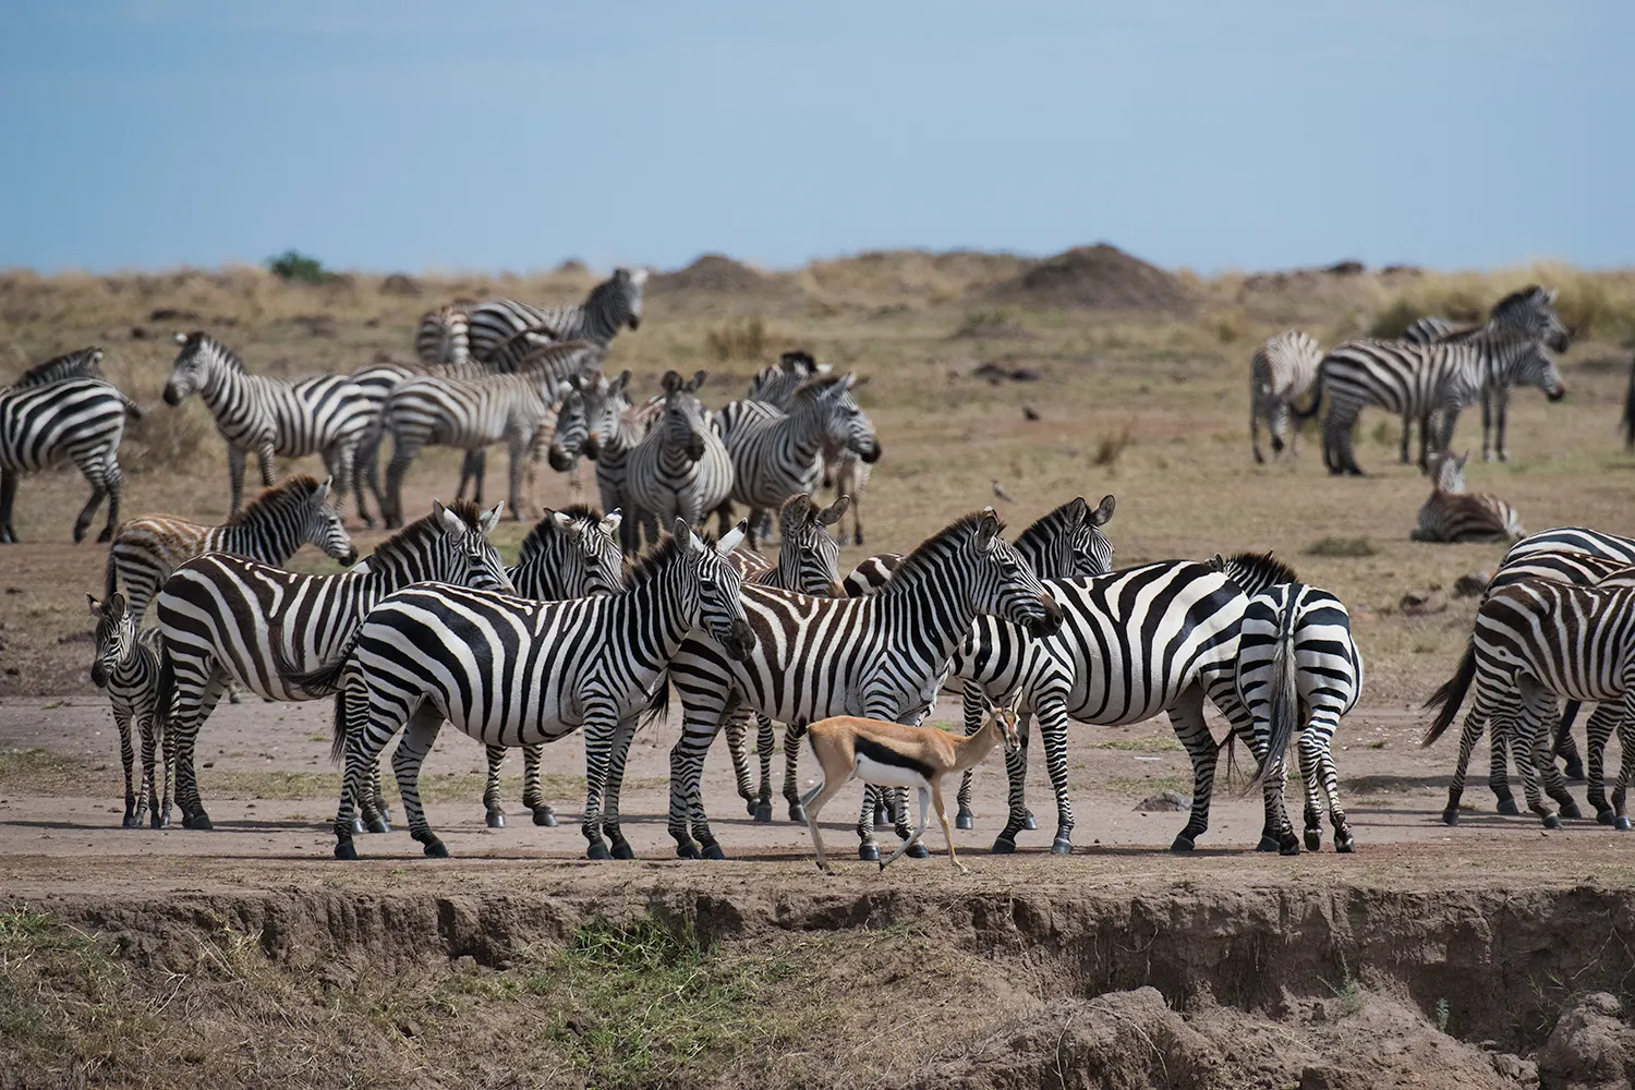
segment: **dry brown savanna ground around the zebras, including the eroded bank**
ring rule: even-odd
[[[10,273],[0,374],[103,345],[110,374],[149,407],[121,453],[124,511],[216,521],[221,441],[196,400],[159,399],[173,330],[206,328],[262,373],[340,371],[409,358],[414,322],[446,299],[577,301],[595,279]],[[1301,325],[1329,345],[1421,312],[1473,317],[1530,281],[1561,289],[1570,394],[1547,405],[1519,392],[1512,461],[1473,461],[1472,487],[1532,529],[1635,533],[1635,459],[1617,435],[1635,343],[1627,273],[1198,279],[1100,250],[1055,263],[865,255],[788,275],[703,260],[656,278],[641,330],[615,342],[610,366],[631,368],[638,389],[669,368],[708,369],[708,404],[790,346],[868,376],[860,400],[885,456],[863,500],[867,551],[907,549],[984,503],[1020,529],[1064,498],[1113,492],[1118,562],[1272,547],[1337,592],[1368,670],[1337,742],[1355,856],[1257,856],[1257,804],[1228,794],[1207,850],[1172,858],[1180,817],[1136,809],[1189,783],[1158,721],[1074,734],[1068,860],[1043,855],[1053,822],[1037,770],[1041,830],[1017,856],[986,855],[1002,811],[989,768],[978,829],[956,835],[973,878],[935,855],[875,874],[852,856],[847,806],[826,815],[842,874],[822,879],[801,827],[744,817],[718,745],[706,799],[732,861],[677,863],[664,832],[672,721],[639,737],[626,789],[639,863],[579,861],[572,740],[549,753],[562,825],[535,829],[513,806],[510,829],[487,830],[481,750],[445,732],[428,801],[456,858],[422,860],[394,832],[342,866],[324,827],[337,789],[327,709],[260,701],[224,704],[201,737],[219,832],[119,830],[116,734],[87,678],[83,595],[100,592],[105,549],[69,544],[83,502],[72,471],[25,479],[26,544],[0,551],[0,1087],[178,1074],[324,1087],[1622,1079],[1630,843],[1496,817],[1480,786],[1447,829],[1436,814],[1452,747],[1418,748],[1418,706],[1452,672],[1475,610],[1454,582],[1489,572],[1503,547],[1408,539],[1427,485],[1396,464],[1396,425],[1378,413],[1362,422],[1362,480],[1329,480],[1315,433],[1290,464],[1256,467],[1248,451],[1248,356],[1265,335]],[[983,364],[1037,377],[989,381]],[[1455,446],[1480,449],[1480,412]],[[504,467],[490,461],[492,498]],[[423,456],[407,510],[446,498],[455,466]],[[541,498],[566,502],[564,479],[546,472]],[[500,531],[507,552],[525,526]],[[378,539],[360,533],[360,547]],[[296,562],[334,570],[311,549]]]

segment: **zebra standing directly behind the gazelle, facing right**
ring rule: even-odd
[[[919,722],[942,688],[948,657],[981,613],[1040,636],[1061,611],[1033,569],[1001,536],[997,515],[966,515],[903,561],[868,598],[809,598],[744,587],[755,631],[736,660],[695,632],[670,660],[685,726],[670,750],[669,830],[680,858],[723,858],[703,809],[705,752],[736,708],[804,727],[835,714]],[[878,858],[873,822],[860,822],[863,858]]]

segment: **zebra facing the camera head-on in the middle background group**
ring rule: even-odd
[[[698,400],[706,374],[664,374],[664,407],[625,461],[625,489],[644,520],[698,526],[732,490],[732,459]]]

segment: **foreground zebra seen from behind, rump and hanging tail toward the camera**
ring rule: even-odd
[[[1295,748],[1306,786],[1305,840],[1316,851],[1323,845],[1323,801],[1328,799],[1329,822],[1334,825],[1334,850],[1354,851],[1355,840],[1339,802],[1339,775],[1334,770],[1334,730],[1362,695],[1362,652],[1351,637],[1351,613],[1346,603],[1321,587],[1301,583],[1293,569],[1274,561],[1270,552],[1220,554],[1210,567],[1225,572],[1249,595],[1243,613],[1243,637],[1238,644],[1238,699],[1254,717],[1259,734],[1270,734],[1277,717],[1274,703],[1298,699],[1300,727]],[[1292,639],[1293,673],[1279,668],[1283,652],[1279,641],[1285,631]],[[1292,680],[1295,691],[1277,691],[1279,680]]]

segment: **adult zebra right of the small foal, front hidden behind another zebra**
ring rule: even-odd
[[[159,592],[165,637],[160,708],[175,732],[177,801],[188,829],[211,829],[193,770],[193,744],[229,680],[267,699],[312,699],[280,678],[273,646],[302,668],[330,660],[376,601],[415,582],[510,590],[489,533],[504,505],[443,507],[397,531],[337,575],[298,575],[226,552],[178,567]]]

